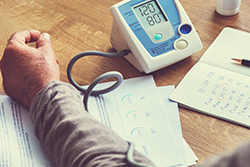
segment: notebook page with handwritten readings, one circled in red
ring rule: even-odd
[[[170,99],[197,111],[250,127],[248,77],[198,63],[186,78]]]

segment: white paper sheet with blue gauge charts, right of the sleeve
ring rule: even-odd
[[[99,84],[99,88],[108,84]],[[178,129],[180,123],[177,121],[174,127],[178,131],[173,132],[152,76],[125,80],[115,91],[91,97],[88,106],[91,115],[123,139],[134,142],[136,149],[157,166],[184,164],[184,154],[180,153],[184,153],[181,130]],[[176,114],[176,104],[172,107]],[[180,143],[176,142],[174,133],[181,137]]]

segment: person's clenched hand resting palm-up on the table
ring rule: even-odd
[[[36,48],[27,43],[36,42]],[[29,109],[47,83],[60,79],[58,60],[50,36],[36,30],[14,33],[0,61],[5,93]]]

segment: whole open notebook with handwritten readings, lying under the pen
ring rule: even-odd
[[[250,127],[250,68],[233,63],[233,57],[250,59],[250,34],[227,27],[170,99],[195,111]]]

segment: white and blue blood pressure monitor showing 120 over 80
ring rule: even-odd
[[[174,64],[202,48],[199,36],[178,0],[123,0],[110,8],[114,49],[140,72]]]

